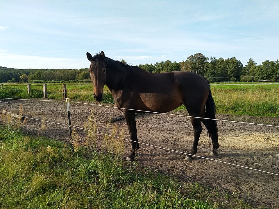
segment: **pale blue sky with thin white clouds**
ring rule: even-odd
[[[138,65],[189,55],[279,59],[279,1],[0,0],[0,66],[81,69],[104,51]]]

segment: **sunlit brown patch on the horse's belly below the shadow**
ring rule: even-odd
[[[182,105],[178,94],[169,96],[163,93],[142,93],[140,98],[144,105],[154,112],[169,112]]]

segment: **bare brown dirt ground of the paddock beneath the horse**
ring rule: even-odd
[[[19,105],[22,104],[24,116],[68,124],[66,102],[26,100],[9,100],[8,102],[10,103],[1,103],[0,109],[18,113]],[[108,106],[114,107],[113,105]],[[116,125],[119,130],[124,129],[124,138],[129,138],[125,120],[113,124],[105,122],[122,114],[120,110],[115,108],[70,102],[72,125],[84,127],[92,109],[94,109],[97,125],[101,132],[110,133],[112,126]],[[187,115],[186,111],[175,111],[174,113]],[[217,118],[279,125],[279,118],[230,115],[217,115]],[[137,135],[140,142],[180,152],[190,151],[193,141],[193,128],[188,117],[144,114],[138,116],[136,121]],[[29,120],[24,125],[23,131],[38,134],[41,123],[41,121]],[[47,129],[40,133],[41,135],[58,140],[69,140],[68,126],[46,123],[46,127]],[[278,127],[218,121],[218,128],[219,156],[209,156],[211,148],[208,145],[207,131],[204,126],[198,145],[198,156],[279,174]],[[131,149],[130,142],[125,141],[125,146],[126,155],[128,155]],[[126,155],[123,157],[125,158]],[[194,161],[185,161],[184,158],[184,154],[140,145],[137,160],[139,166],[167,172],[180,178],[181,181],[198,182],[230,192],[239,191],[239,197],[248,200],[254,206],[279,208],[279,176],[202,158],[195,158]]]

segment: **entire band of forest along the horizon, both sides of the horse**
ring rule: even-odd
[[[125,60],[121,60],[127,64]],[[279,80],[279,60],[266,60],[257,64],[252,58],[244,66],[235,57],[205,57],[202,53],[190,55],[187,60],[169,60],[155,64],[140,64],[149,73],[191,71],[210,82],[237,80]],[[88,68],[84,69],[14,69],[0,67],[0,82],[90,82]]]

